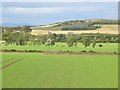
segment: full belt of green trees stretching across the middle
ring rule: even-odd
[[[31,35],[31,29],[28,26],[3,28],[2,40],[6,41],[6,44],[16,45],[46,45],[53,46],[55,42],[66,42],[69,47],[77,46],[78,43],[82,43],[85,47],[92,44],[93,48],[96,43],[120,43],[120,34],[53,34],[47,35]]]

